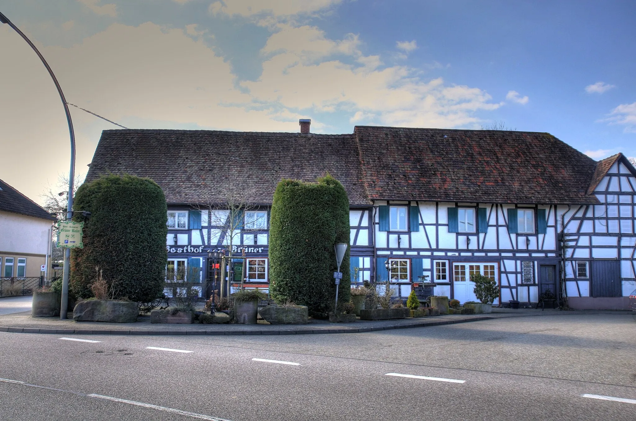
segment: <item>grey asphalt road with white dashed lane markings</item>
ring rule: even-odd
[[[63,337],[0,332],[1,420],[636,420],[632,315],[336,335]]]

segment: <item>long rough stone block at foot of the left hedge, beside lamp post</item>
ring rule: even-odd
[[[134,301],[86,300],[80,301],[73,309],[76,321],[107,321],[130,323],[137,321],[139,308]]]

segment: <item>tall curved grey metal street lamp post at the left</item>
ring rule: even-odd
[[[43,65],[48,70],[48,74],[50,74],[51,79],[53,79],[53,83],[55,83],[55,88],[57,88],[57,93],[60,95],[60,99],[62,100],[62,105],[64,105],[64,112],[66,112],[66,121],[69,123],[69,135],[71,135],[71,170],[69,170],[69,193],[67,199],[67,207],[66,207],[66,219],[71,220],[73,217],[73,180],[75,177],[75,133],[73,131],[73,121],[71,121],[71,112],[69,111],[69,106],[66,102],[66,98],[64,98],[64,93],[62,92],[62,88],[60,88],[60,84],[57,82],[55,75],[53,74],[53,70],[49,67],[48,63],[46,63],[45,58],[38,51],[36,46],[31,42],[27,36],[17,26],[13,24],[6,16],[0,13],[0,23],[6,23],[9,25],[15,32],[20,35],[24,41],[27,41],[27,44],[31,46],[33,51],[36,52],[39,59],[42,61]],[[62,276],[62,302],[60,304],[60,319],[66,319],[66,312],[69,305],[69,264],[71,261],[71,249],[64,249],[64,274]]]

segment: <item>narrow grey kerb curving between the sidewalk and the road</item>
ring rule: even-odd
[[[285,330],[85,330],[85,329],[48,329],[48,328],[17,328],[0,326],[0,331],[14,333],[49,333],[55,335],[135,335],[135,336],[235,336],[235,335],[321,335],[328,333],[367,333],[382,330],[397,330],[410,328],[425,328],[442,324],[467,323],[495,319],[497,317],[482,316],[466,319],[436,320],[413,324],[393,324],[389,326],[375,326],[373,328],[341,328],[341,329],[285,329]]]

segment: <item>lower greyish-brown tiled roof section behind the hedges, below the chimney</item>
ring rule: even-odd
[[[169,203],[224,203],[219,191],[245,187],[272,203],[281,178],[315,181],[329,172],[352,205],[370,201],[354,135],[217,130],[104,130],[86,175],[128,173],[159,184]],[[242,188],[242,187],[239,187]]]

